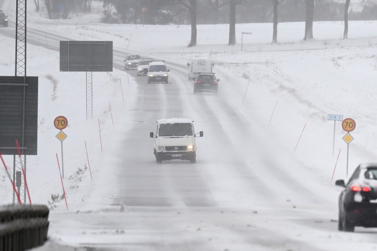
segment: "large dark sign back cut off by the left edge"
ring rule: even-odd
[[[24,77],[0,76],[1,154],[18,155],[15,141],[22,147],[23,134],[23,154],[37,155],[38,77],[26,77],[24,84]]]

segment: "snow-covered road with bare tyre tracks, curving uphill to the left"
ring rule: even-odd
[[[0,30],[11,38],[13,32]],[[28,43],[58,51],[60,40],[77,36],[28,29]],[[124,51],[114,47],[118,70],[124,69]],[[276,140],[279,134],[260,121],[252,104],[235,105],[238,90],[232,83],[238,78],[217,68],[218,96],[194,95],[185,61],[168,53],[145,56],[166,59],[169,84],[147,84],[146,77],[129,71],[136,101],[123,120],[131,126],[113,137],[117,161],[104,167],[116,176],[110,181],[116,187],[109,194],[111,204],[94,211],[52,211],[51,241],[37,250],[57,245],[62,250],[71,250],[64,245],[95,248],[90,250],[376,248],[375,229],[337,230],[338,192],[292,158],[291,149]],[[204,131],[196,140],[196,164],[155,163],[149,132],[155,131],[156,120],[170,117],[193,119],[196,131]]]

